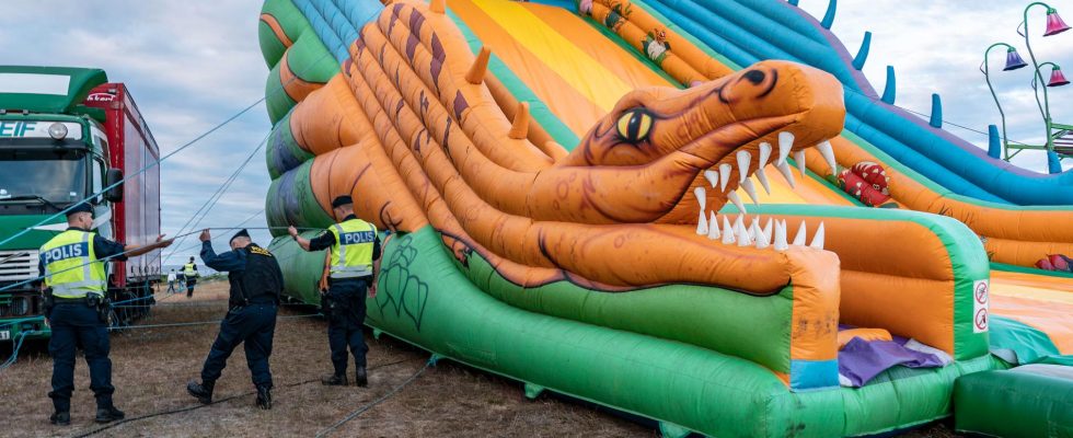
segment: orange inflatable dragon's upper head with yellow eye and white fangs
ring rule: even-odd
[[[660,217],[651,217],[649,205],[645,219],[687,223],[697,218],[697,196],[713,210],[727,200],[740,206],[734,191],[741,185],[752,193],[748,177],[758,170],[766,187],[768,164],[792,178],[787,157],[800,159],[806,148],[838,136],[844,119],[834,77],[763,61],[687,90],[626,94],[559,164],[638,168],[637,186],[666,187]]]

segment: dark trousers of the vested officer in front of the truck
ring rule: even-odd
[[[90,366],[90,389],[97,407],[112,407],[112,359],[108,359],[108,328],[96,309],[84,300],[57,300],[48,316],[53,337],[48,339],[48,353],[53,356],[53,407],[57,412],[71,411],[71,393],[74,392],[74,349],[85,351]]]

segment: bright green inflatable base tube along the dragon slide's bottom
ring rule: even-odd
[[[289,252],[290,239],[273,250]],[[315,297],[322,254],[293,254],[293,297]],[[296,273],[305,270],[305,274]],[[379,293],[366,323],[451,360],[653,419],[668,433],[718,437],[882,434],[951,413],[954,380],[1002,368],[984,356],[942,369],[897,367],[861,389],[791,392],[766,368],[693,345],[521,310],[476,288],[430,227],[384,245]],[[637,309],[644,312],[645,309]]]

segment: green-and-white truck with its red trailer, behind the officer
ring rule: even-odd
[[[132,155],[132,157],[131,157]],[[61,215],[82,199],[96,233],[127,244],[160,230],[159,150],[122,83],[103,70],[0,66],[0,342],[44,338],[44,300],[35,283],[38,249],[67,229]],[[107,192],[104,187],[136,175]],[[28,229],[28,230],[27,230]],[[160,252],[107,264],[116,322],[148,312]],[[15,286],[18,285],[18,286]]]

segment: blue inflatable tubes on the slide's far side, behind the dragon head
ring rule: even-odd
[[[879,102],[842,44],[796,7],[760,0],[645,3],[736,64],[787,59],[831,72],[847,89],[850,131],[953,193],[1007,205],[1073,205],[1073,173],[1037,174],[992,159]]]

